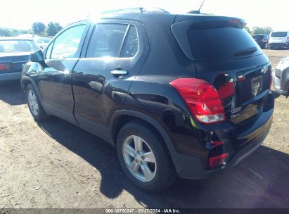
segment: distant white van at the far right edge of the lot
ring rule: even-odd
[[[270,33],[270,49],[286,48],[289,49],[289,31],[274,31]]]

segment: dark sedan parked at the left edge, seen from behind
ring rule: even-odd
[[[39,46],[30,39],[0,37],[0,82],[20,80],[23,65],[30,59],[30,53]]]

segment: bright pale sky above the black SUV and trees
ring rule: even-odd
[[[100,11],[138,6],[160,7],[170,13],[198,9],[203,0],[1,0],[0,27],[28,30],[32,23],[50,21],[63,27]],[[289,30],[289,0],[205,0],[202,13],[243,18],[248,27]]]

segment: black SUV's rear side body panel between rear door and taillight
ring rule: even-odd
[[[179,153],[205,159],[207,151],[198,141],[198,130],[191,125],[188,108],[169,84],[176,78],[196,76],[195,63],[186,58],[174,39],[170,29],[173,21],[173,18],[169,21],[159,18],[154,23],[143,20],[150,52],[131,84],[123,107],[156,120]]]

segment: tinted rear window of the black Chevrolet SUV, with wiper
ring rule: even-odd
[[[188,37],[195,61],[227,60],[246,49],[257,49],[250,55],[262,53],[255,40],[241,27],[196,27],[188,30]]]

